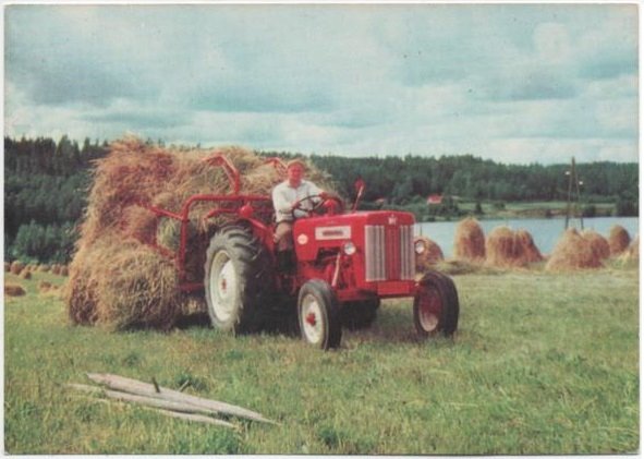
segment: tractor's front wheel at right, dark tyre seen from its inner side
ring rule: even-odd
[[[454,282],[438,271],[429,271],[418,282],[414,297],[414,325],[422,338],[451,336],[459,324],[459,295]]]

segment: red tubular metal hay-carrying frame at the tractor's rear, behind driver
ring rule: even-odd
[[[215,154],[203,159],[214,168],[222,168],[229,182],[231,192],[229,194],[195,194],[190,196],[182,205],[180,213],[173,213],[150,204],[139,204],[142,207],[150,210],[156,216],[155,231],[153,241],[143,241],[156,249],[162,255],[173,259],[177,270],[179,273],[179,286],[181,291],[191,292],[204,288],[203,282],[187,281],[186,262],[187,262],[187,239],[190,229],[191,210],[197,204],[212,203],[212,209],[203,217],[204,220],[209,220],[217,217],[228,217],[230,220],[239,219],[240,217],[248,219],[251,225],[258,227],[260,231],[267,232],[267,225],[260,220],[270,221],[272,218],[271,200],[266,195],[257,194],[241,194],[241,179],[240,172],[234,165],[223,155]],[[267,160],[274,165],[277,170],[284,169],[283,162],[278,158],[270,158]],[[251,217],[253,214],[259,214],[259,219]],[[175,252],[159,244],[157,240],[157,227],[159,219],[166,217],[180,222],[180,240],[179,247]]]

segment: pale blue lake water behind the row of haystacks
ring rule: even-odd
[[[534,243],[543,254],[552,252],[557,241],[563,232],[563,218],[521,218],[505,220],[479,220],[483,232],[487,237],[489,232],[501,226],[507,226],[513,230],[524,229],[532,234]],[[452,256],[454,246],[454,234],[459,221],[440,221],[416,224],[416,235],[423,234],[436,242],[446,257]],[[622,226],[631,235],[631,239],[639,233],[637,217],[597,217],[584,218],[584,229],[594,229],[599,234],[608,238],[610,229],[616,226]],[[579,219],[569,221],[569,227],[581,229]]]

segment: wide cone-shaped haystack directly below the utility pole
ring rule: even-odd
[[[597,256],[591,242],[584,239],[575,228],[570,228],[557,242],[546,270],[564,271],[602,267],[602,259]]]

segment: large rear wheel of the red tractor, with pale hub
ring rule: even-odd
[[[252,232],[223,227],[206,252],[204,287],[212,326],[253,333],[262,326],[263,299],[272,291],[268,252]]]

